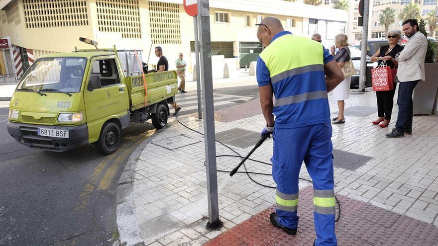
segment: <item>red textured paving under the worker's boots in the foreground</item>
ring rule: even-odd
[[[336,195],[341,218],[336,223],[338,246],[438,246],[438,228],[419,220]],[[312,186],[300,190],[297,235],[287,235],[273,227],[271,206],[205,246],[312,246],[316,238],[313,221]]]

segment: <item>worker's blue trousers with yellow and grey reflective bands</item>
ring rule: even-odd
[[[304,161],[314,187],[315,245],[336,246],[331,124],[276,127],[273,139],[272,176],[277,184],[276,213],[280,224],[292,229],[298,226],[298,177]]]

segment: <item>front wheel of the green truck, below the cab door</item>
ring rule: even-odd
[[[120,129],[112,122],[107,122],[102,127],[98,141],[98,149],[105,155],[114,153],[120,144]]]

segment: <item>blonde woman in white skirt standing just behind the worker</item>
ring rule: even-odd
[[[335,47],[336,46],[336,47]],[[335,54],[336,48],[338,51]],[[339,33],[334,37],[334,45],[331,47],[331,55],[334,56],[339,68],[345,65],[345,62],[351,60],[350,50],[348,49],[348,37],[343,33]],[[344,117],[344,100],[348,99],[350,94],[350,82],[351,76],[346,76],[345,79],[337,85],[332,92],[333,99],[337,101],[338,113],[337,116],[331,119],[332,124],[343,124],[345,123]]]

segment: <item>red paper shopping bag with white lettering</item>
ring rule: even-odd
[[[394,89],[394,77],[391,67],[387,66],[386,61],[371,69],[371,82],[374,91],[386,91]]]

